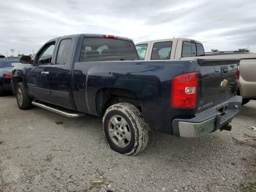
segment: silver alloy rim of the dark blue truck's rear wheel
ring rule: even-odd
[[[110,118],[108,134],[112,142],[120,148],[127,147],[131,142],[130,127],[122,116],[114,115]]]

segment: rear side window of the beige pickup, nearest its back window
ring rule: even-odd
[[[172,50],[172,42],[157,42],[154,43],[151,60],[158,60],[158,59],[170,59]]]

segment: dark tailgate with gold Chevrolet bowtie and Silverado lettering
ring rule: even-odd
[[[197,112],[236,95],[240,59],[198,59]]]

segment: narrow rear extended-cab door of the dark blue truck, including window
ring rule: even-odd
[[[58,40],[56,56],[50,71],[51,96],[54,104],[76,109],[71,98],[71,63],[77,36],[65,36]]]

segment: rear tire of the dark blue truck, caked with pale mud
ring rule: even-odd
[[[123,118],[123,120],[126,121],[127,125],[125,126],[125,129],[122,127],[122,123],[117,124],[115,128],[114,124],[110,122],[110,120],[116,116]],[[149,131],[146,129],[144,125],[142,113],[134,105],[129,103],[118,103],[110,106],[106,110],[103,116],[102,123],[103,123],[103,132],[104,132],[105,139],[108,142],[108,146],[112,150],[125,155],[137,155],[138,153],[142,152],[146,148],[146,145],[148,143],[148,138],[149,138]],[[117,133],[118,132],[117,128],[119,125],[121,125],[120,134]],[[123,147],[119,147],[117,146],[117,144],[115,144],[114,142],[115,137],[116,137],[116,141],[118,142],[117,135],[114,136],[114,134],[112,134],[112,137],[110,137],[110,131],[113,132],[113,130],[111,130],[112,129],[111,126],[114,127],[114,132],[115,134],[118,134],[119,139],[124,140]],[[127,134],[128,135],[130,134],[129,143],[127,142],[125,144],[126,138],[120,138],[120,136],[122,136],[122,133],[124,133],[123,130],[121,130],[121,128],[127,131],[126,136]]]

